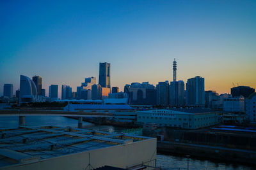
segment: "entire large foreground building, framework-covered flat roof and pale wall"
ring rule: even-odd
[[[148,170],[156,167],[156,138],[52,126],[0,132],[8,134],[1,139],[0,169],[135,169],[141,162]]]

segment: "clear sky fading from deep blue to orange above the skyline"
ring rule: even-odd
[[[256,88],[256,1],[0,1],[0,96],[20,74],[76,91],[99,81],[111,63],[111,87],[205,78],[205,90]],[[234,83],[234,85],[233,85]]]

